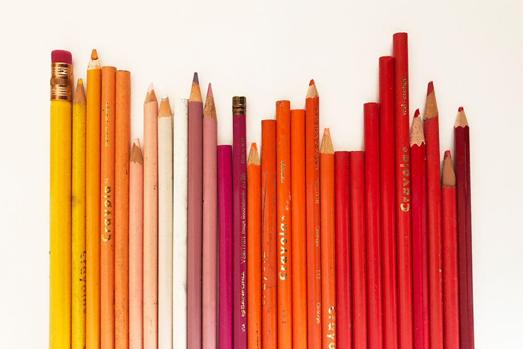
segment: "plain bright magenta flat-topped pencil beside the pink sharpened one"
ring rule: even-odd
[[[218,347],[232,349],[232,147],[218,145]]]

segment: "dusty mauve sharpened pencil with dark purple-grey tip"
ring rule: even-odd
[[[201,337],[203,103],[198,74],[188,103],[187,168],[187,347],[199,348]]]

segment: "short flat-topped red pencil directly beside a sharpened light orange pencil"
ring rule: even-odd
[[[352,314],[350,292],[349,152],[334,152],[336,218],[336,321],[337,345],[351,348]]]

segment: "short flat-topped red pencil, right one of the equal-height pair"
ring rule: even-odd
[[[354,349],[367,349],[367,262],[365,239],[365,157],[349,153],[350,235],[353,269]]]

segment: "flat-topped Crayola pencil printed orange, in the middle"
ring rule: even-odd
[[[278,347],[292,347],[291,110],[276,102],[276,217],[278,222]]]

